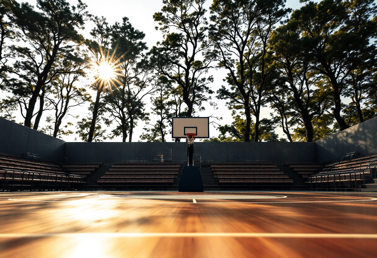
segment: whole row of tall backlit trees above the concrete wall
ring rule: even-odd
[[[0,117],[89,142],[131,142],[140,123],[141,140],[168,141],[173,116],[214,97],[231,116],[205,141],[311,142],[376,117],[374,0],[300,2],[162,0],[148,49],[127,17],[109,25],[80,0],[0,0]]]

